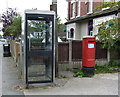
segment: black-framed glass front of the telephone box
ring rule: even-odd
[[[27,17],[28,81],[53,80],[52,17]]]

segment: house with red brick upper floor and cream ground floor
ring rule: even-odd
[[[99,32],[98,24],[117,17],[118,8],[102,8],[94,11],[103,2],[118,0],[70,0],[68,1],[67,39],[82,40],[83,36],[94,36]]]

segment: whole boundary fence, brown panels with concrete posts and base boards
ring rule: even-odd
[[[19,53],[21,53],[20,45],[19,42],[15,41],[11,41],[10,43],[12,57],[18,64],[20,62]],[[105,64],[107,62],[107,50],[102,48],[102,43],[100,42],[96,43],[95,58],[97,64]],[[82,41],[72,40],[69,42],[58,43],[58,64],[59,70],[80,68],[82,64]]]

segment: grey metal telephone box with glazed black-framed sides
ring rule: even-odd
[[[55,12],[25,10],[22,18],[22,62],[26,86],[55,78]]]

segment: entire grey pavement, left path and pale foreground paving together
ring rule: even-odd
[[[29,89],[24,89],[22,81],[18,79],[13,59],[3,57],[1,44],[0,52],[2,95],[118,95],[118,73],[96,74],[92,78],[75,78],[71,72],[65,71],[62,75],[67,78],[56,78],[54,84],[32,84]]]

